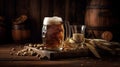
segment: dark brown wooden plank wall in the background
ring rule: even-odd
[[[28,16],[31,25],[31,42],[42,42],[41,29],[46,16],[60,16],[70,24],[84,24],[85,11],[90,0],[0,0],[0,16],[5,18],[5,43],[12,43],[12,22],[21,14]],[[117,0],[110,0],[113,17],[119,22],[120,7]],[[119,26],[119,25],[118,25]],[[119,31],[119,30],[118,30]]]

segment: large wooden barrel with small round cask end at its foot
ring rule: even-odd
[[[90,0],[85,13],[88,38],[103,38],[108,41],[115,37],[118,22],[113,16],[111,0]]]

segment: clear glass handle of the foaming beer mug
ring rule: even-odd
[[[69,21],[65,21],[64,23],[64,32],[65,32],[65,36],[64,36],[64,40],[66,40],[67,38],[71,37],[71,30],[70,30],[70,23]]]

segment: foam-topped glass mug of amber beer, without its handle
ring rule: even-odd
[[[48,50],[60,50],[64,41],[64,27],[61,17],[45,17],[42,27],[43,44]]]

